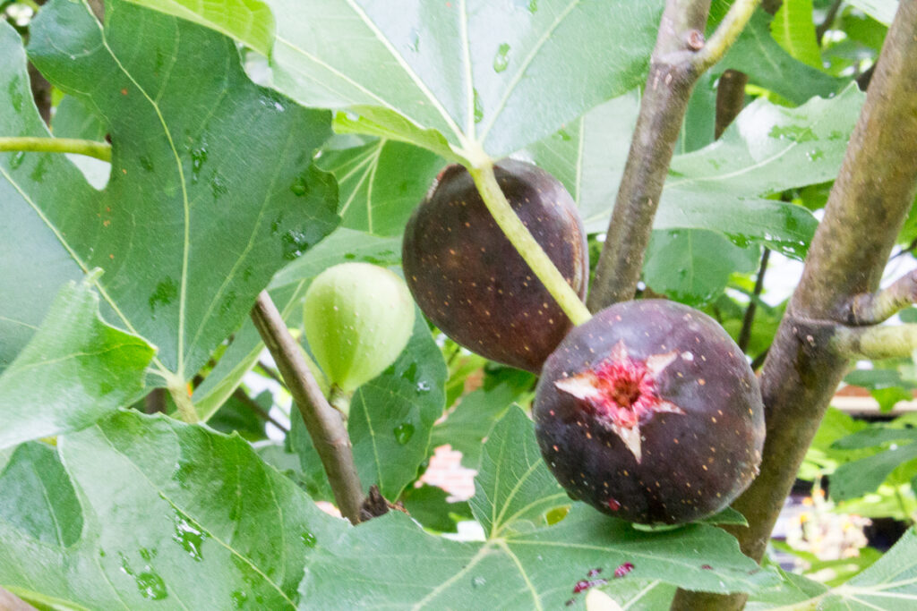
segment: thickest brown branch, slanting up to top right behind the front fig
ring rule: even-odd
[[[798,321],[834,320],[839,303],[875,291],[917,191],[917,2],[902,2],[889,28],[866,104],[847,147],[799,288],[765,361],[767,439],[761,474],[734,507],[748,528],[730,529],[760,560],[847,359],[805,345]],[[894,125],[894,129],[889,129]],[[681,608],[729,609],[729,597],[679,592]]]

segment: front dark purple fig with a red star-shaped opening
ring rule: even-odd
[[[573,329],[547,358],[533,412],[560,485],[641,524],[713,515],[761,462],[764,407],[745,355],[672,301],[618,303]]]

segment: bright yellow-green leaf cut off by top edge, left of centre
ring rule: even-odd
[[[271,55],[274,16],[260,0],[127,0],[168,15],[182,17],[236,38],[239,42]]]

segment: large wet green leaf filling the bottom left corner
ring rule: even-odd
[[[23,448],[0,475],[0,584],[27,600],[293,608],[306,557],[347,528],[247,442],[161,416]]]

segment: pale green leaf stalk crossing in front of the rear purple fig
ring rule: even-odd
[[[510,202],[497,184],[493,174],[493,161],[490,158],[479,160],[477,164],[469,167],[469,173],[475,186],[481,193],[484,205],[491,212],[493,220],[503,230],[503,234],[514,245],[516,251],[525,259],[536,277],[545,285],[547,292],[558,302],[560,309],[574,325],[579,326],[591,319],[592,314],[580,300],[567,280],[558,271],[551,259],[545,254],[544,249],[536,242],[528,228],[514,213]]]

